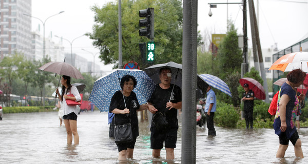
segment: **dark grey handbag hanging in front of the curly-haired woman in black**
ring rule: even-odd
[[[133,141],[130,118],[129,118],[129,123],[123,125],[117,125],[115,124],[115,116],[114,116],[114,141],[121,143]]]

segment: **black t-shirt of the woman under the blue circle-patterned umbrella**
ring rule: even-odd
[[[123,125],[129,122],[130,116],[130,123],[131,123],[131,130],[134,137],[139,135],[139,128],[138,128],[138,117],[137,117],[137,109],[139,109],[140,105],[138,103],[138,99],[136,93],[131,92],[128,97],[124,96],[126,107],[129,109],[129,114],[114,114],[115,125]],[[109,112],[113,111],[115,108],[124,110],[125,104],[123,100],[123,95],[121,91],[117,91],[113,94]]]

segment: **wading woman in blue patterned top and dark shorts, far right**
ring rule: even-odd
[[[278,96],[278,109],[273,124],[275,133],[279,136],[277,158],[284,157],[289,140],[294,146],[295,156],[300,158],[304,157],[295,122],[296,116],[301,113],[300,100],[305,98],[304,94],[297,97],[296,88],[303,84],[305,76],[306,73],[300,69],[293,70],[287,74],[287,81],[281,86],[281,91]]]

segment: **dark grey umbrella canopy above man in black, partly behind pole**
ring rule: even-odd
[[[159,84],[161,83],[159,79],[159,70],[163,67],[168,67],[171,69],[171,72],[172,72],[171,83],[182,88],[182,65],[181,64],[170,61],[164,64],[152,65],[144,69],[144,71],[150,76],[151,79],[153,79],[154,83]],[[208,87],[208,84],[206,84],[205,81],[199,75],[197,77],[197,87],[198,87],[197,88],[197,98],[204,97],[206,94],[206,89]]]

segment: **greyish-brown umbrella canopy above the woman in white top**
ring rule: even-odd
[[[70,76],[70,77],[74,77],[78,79],[84,79],[83,75],[79,72],[78,69],[64,62],[52,61],[52,62],[49,62],[41,66],[38,69],[42,71],[57,73],[60,75],[66,75],[66,76]]]

